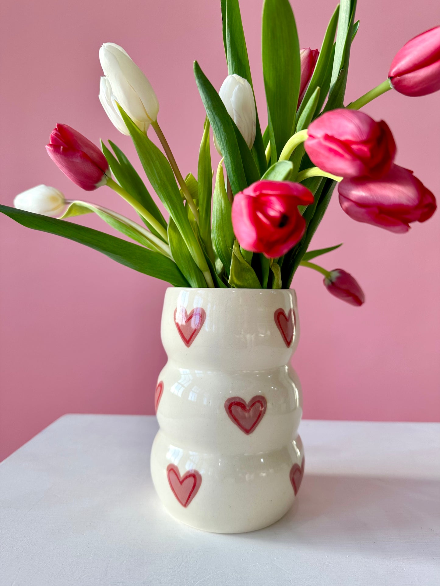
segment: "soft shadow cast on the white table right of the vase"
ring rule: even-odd
[[[439,482],[409,478],[306,475],[292,509],[279,522],[249,533],[251,540],[340,549],[357,542],[362,550],[385,554],[387,543],[425,541],[412,554],[437,556]],[[434,517],[437,520],[434,521]],[[425,532],[422,531],[422,527]],[[408,551],[409,553],[409,551]]]

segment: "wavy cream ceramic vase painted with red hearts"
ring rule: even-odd
[[[295,291],[168,288],[161,337],[151,476],[165,508],[217,533],[274,523],[304,471]]]

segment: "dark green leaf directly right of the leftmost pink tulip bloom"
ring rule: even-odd
[[[106,145],[104,145],[103,141],[101,141],[104,156],[106,157],[107,162],[110,165],[110,169],[113,172],[117,182],[123,189],[126,190],[126,192],[130,193],[130,195],[134,197],[137,202],[144,206],[145,209],[150,212],[150,214],[166,230],[167,222],[165,221],[164,216],[160,213],[160,210],[153,200],[153,197],[151,197],[150,193],[148,193],[148,189],[145,187],[143,180],[137,174],[133,165],[131,165],[130,161],[128,161],[126,155],[124,155],[121,149],[111,141],[109,141],[109,144],[111,148],[113,148],[117,159],[109,151]],[[152,226],[150,226],[150,224],[142,216],[140,217],[144,224],[151,230],[151,232],[155,234],[155,236],[158,236],[160,239],[162,239],[160,234],[158,234],[157,231]]]

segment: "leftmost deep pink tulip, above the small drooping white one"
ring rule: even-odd
[[[49,141],[50,158],[79,187],[92,191],[111,178],[109,163],[99,148],[67,124],[57,124]]]

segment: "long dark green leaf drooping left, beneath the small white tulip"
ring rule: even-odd
[[[64,220],[24,212],[23,210],[15,209],[15,207],[0,205],[0,212],[11,217],[22,226],[57,234],[80,244],[85,244],[112,258],[117,263],[133,268],[135,271],[168,281],[175,287],[188,287],[188,281],[178,269],[177,264],[170,258],[155,253],[153,250],[148,250],[143,246],[138,246],[86,226],[78,226],[78,224],[72,224]]]

